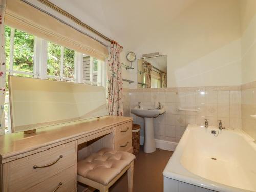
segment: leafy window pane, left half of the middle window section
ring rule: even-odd
[[[61,46],[48,41],[47,75],[60,76]]]

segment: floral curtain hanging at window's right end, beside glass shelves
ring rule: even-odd
[[[108,58],[108,111],[109,115],[123,116],[123,80],[119,55],[122,46],[113,41]]]

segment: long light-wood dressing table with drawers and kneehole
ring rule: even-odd
[[[131,117],[104,116],[0,136],[0,190],[77,191],[77,160],[104,147],[132,152]]]

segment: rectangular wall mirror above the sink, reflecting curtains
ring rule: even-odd
[[[138,88],[167,87],[167,55],[138,59]]]

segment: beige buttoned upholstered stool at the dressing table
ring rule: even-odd
[[[88,156],[77,163],[77,181],[106,192],[126,171],[128,171],[128,191],[133,190],[133,160],[128,152],[110,148]]]

